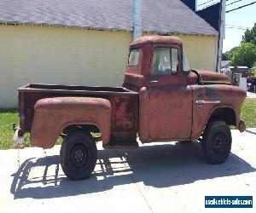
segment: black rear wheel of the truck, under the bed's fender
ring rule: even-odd
[[[76,130],[68,134],[61,144],[61,167],[73,181],[90,176],[96,166],[97,148],[90,134]]]

